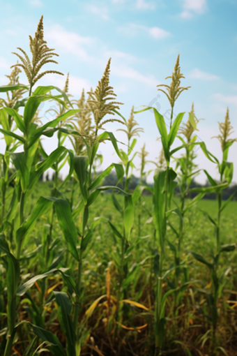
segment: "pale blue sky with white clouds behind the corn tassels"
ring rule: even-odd
[[[237,1],[236,0],[25,0],[0,1],[0,82],[10,66],[16,63],[11,52],[22,47],[29,52],[29,34],[33,36],[44,15],[45,40],[59,54],[59,64],[49,68],[70,72],[70,93],[78,98],[82,88],[95,88],[112,57],[111,84],[124,103],[121,113],[128,117],[132,105],[153,105],[164,114],[169,110],[165,94],[156,85],[171,75],[178,53],[181,56],[184,91],[174,107],[175,114],[188,112],[194,102],[199,123],[199,140],[221,159],[217,121],[223,121],[227,106],[237,136]],[[26,82],[22,73],[21,82]],[[63,87],[65,77],[48,75],[38,84]],[[43,113],[43,109],[42,109]],[[151,112],[135,117],[144,128],[137,148],[146,142],[148,158],[158,157],[161,144]],[[119,125],[107,126],[114,131]],[[125,141],[123,133],[116,136]],[[233,137],[236,137],[235,135]],[[56,140],[44,142],[50,151]],[[178,142],[176,143],[178,144]],[[236,145],[231,147],[229,161],[236,161]],[[2,151],[3,144],[0,149]],[[108,144],[102,145],[103,168],[112,161]],[[217,177],[215,165],[197,151],[199,168]],[[139,158],[136,161],[139,165]],[[148,165],[148,169],[152,165]],[[205,181],[201,174],[197,180]],[[237,173],[234,174],[237,181]]]

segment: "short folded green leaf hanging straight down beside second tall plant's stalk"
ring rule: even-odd
[[[87,203],[87,191],[86,191],[86,170],[87,170],[87,156],[75,156],[74,166],[77,178],[79,180],[79,186],[84,200],[84,205]]]

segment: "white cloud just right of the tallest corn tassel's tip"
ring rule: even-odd
[[[53,40],[56,48],[61,48],[66,53],[75,54],[82,61],[91,59],[84,46],[91,45],[93,38],[80,36],[75,32],[66,31],[61,25],[56,24],[47,32],[47,38]]]

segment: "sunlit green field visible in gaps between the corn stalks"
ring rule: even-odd
[[[36,204],[40,196],[50,196],[52,193],[52,182],[39,182],[34,189],[31,197],[26,202],[26,214],[30,214],[34,205]],[[62,193],[70,196],[70,184],[63,189]],[[75,197],[79,194],[79,191],[75,192]],[[117,195],[118,201],[123,203],[123,196]],[[174,198],[174,202],[179,204],[179,198]],[[173,205],[175,206],[175,203]],[[138,207],[137,207],[138,208]],[[142,238],[139,244],[128,255],[128,276],[131,276],[128,283],[128,299],[139,302],[143,306],[146,306],[149,311],[142,313],[142,309],[128,304],[128,310],[126,311],[126,318],[123,321],[125,327],[135,328],[146,325],[148,322],[152,322],[152,313],[154,311],[154,273],[153,273],[153,257],[155,249],[159,246],[154,242],[154,227],[151,221],[152,214],[152,197],[142,196]],[[236,241],[237,235],[237,223],[236,223],[236,210],[237,202],[231,202],[223,212],[222,216],[222,244],[232,244]],[[135,209],[136,211],[136,209]],[[202,212],[203,211],[203,212]],[[215,218],[217,212],[217,202],[215,200],[200,200],[196,207],[192,208],[188,212],[185,218],[185,235],[183,236],[183,253],[182,259],[185,260],[185,273],[181,275],[180,283],[190,281],[188,287],[182,292],[182,303],[178,307],[178,311],[174,309],[174,295],[170,295],[167,299],[167,324],[168,332],[165,336],[165,345],[167,350],[177,349],[177,355],[186,355],[187,350],[191,355],[198,355],[197,350],[208,353],[208,337],[206,343],[205,334],[208,331],[209,325],[207,318],[202,314],[206,312],[208,314],[204,290],[208,292],[211,288],[211,275],[205,265],[194,260],[190,251],[201,253],[205,258],[211,260],[212,249],[215,249],[215,229],[210,224],[208,217],[204,214],[207,212],[210,216]],[[122,221],[119,212],[114,210],[112,202],[112,195],[104,193],[100,195],[96,200],[93,209],[91,210],[89,223],[93,223],[94,218],[103,216],[109,219],[117,228],[121,228]],[[38,218],[35,228],[31,233],[31,237],[26,239],[23,246],[24,255],[22,255],[22,273],[26,276],[26,279],[30,279],[31,276],[38,275],[44,272],[44,251],[43,251],[43,229],[42,226],[47,226],[49,216],[43,215]],[[171,216],[171,222],[174,226],[178,225],[178,219],[176,216]],[[130,244],[134,244],[137,241],[137,220],[132,228]],[[63,253],[63,257],[60,258],[54,267],[70,267],[71,270],[75,270],[75,262],[70,258],[70,253],[67,251],[67,244],[61,237],[61,230],[59,225],[55,221],[54,232],[52,240],[55,241],[60,238],[60,242],[56,245],[51,253],[50,260],[52,263],[57,261],[57,258]],[[171,228],[167,229],[167,239],[176,244],[176,236],[172,232]],[[79,244],[79,242],[78,242]],[[32,254],[32,251],[33,254]],[[86,249],[86,255],[82,267],[82,300],[81,300],[81,312],[79,313],[79,320],[84,320],[84,329],[82,337],[84,338],[84,350],[90,350],[86,348],[86,341],[89,340],[89,336],[92,337],[93,342],[101,350],[104,355],[109,355],[110,350],[110,338],[109,325],[105,325],[105,319],[107,319],[107,307],[105,303],[100,303],[95,308],[91,317],[85,318],[86,309],[93,304],[98,297],[107,295],[106,276],[107,270],[110,271],[110,294],[116,298],[118,293],[119,265],[116,265],[115,256],[121,253],[121,241],[117,238],[112,229],[109,227],[109,223],[102,221],[94,230],[93,238],[89,246]],[[236,279],[236,258],[237,253],[223,254],[220,261],[220,269],[231,267],[228,278],[224,281],[222,298],[219,300],[219,307],[223,306],[224,313],[221,313],[221,322],[224,329],[221,330],[220,339],[225,342],[225,349],[228,355],[234,355],[232,353],[232,339],[234,334],[231,327],[234,329],[236,320],[236,309],[231,309],[228,304],[228,300],[236,300],[237,294],[231,294],[231,290],[234,290]],[[117,262],[118,263],[118,262]],[[165,266],[164,271],[174,267],[174,253],[171,251],[168,244],[165,246]],[[195,283],[193,283],[195,281]],[[164,290],[168,290],[172,286],[174,287],[174,272],[168,277]],[[40,304],[40,290],[45,288],[50,290],[60,290],[64,292],[70,292],[65,280],[62,279],[61,274],[54,272],[48,277],[47,283],[43,283],[38,280],[38,284],[34,284],[31,289],[31,298],[36,305]],[[50,296],[50,295],[49,295]],[[45,298],[45,326],[52,330],[54,334],[60,336],[60,325],[57,318],[55,303],[50,302],[50,297]],[[49,301],[47,302],[47,299]],[[103,299],[102,299],[102,302]],[[233,302],[234,303],[234,302]],[[30,311],[29,306],[32,308],[32,304],[29,299],[22,299],[20,303],[19,313],[24,320],[30,320],[36,318],[34,311]],[[199,306],[201,309],[199,309]],[[200,311],[201,310],[201,311]],[[33,314],[32,314],[33,313]],[[112,313],[112,311],[109,311]],[[151,314],[150,314],[151,313]],[[86,320],[86,321],[85,321]],[[104,321],[103,321],[104,320]],[[176,327],[178,322],[179,327]],[[112,325],[110,325],[112,328]],[[22,327],[22,341],[24,339],[31,339],[31,332],[26,327]],[[26,334],[27,338],[26,338]],[[102,333],[102,334],[101,334]],[[150,334],[150,335],[149,335]],[[119,339],[117,339],[115,345],[120,345],[119,349],[116,349],[118,355],[122,355],[124,350],[129,349],[130,346],[134,353],[137,355],[149,355],[152,353],[151,335],[153,334],[151,326],[147,326],[137,332],[136,330],[126,330],[121,327]],[[207,334],[208,336],[208,334]],[[60,336],[61,341],[65,340],[63,335]],[[150,341],[149,341],[150,340]],[[178,343],[176,343],[176,341]],[[26,346],[27,341],[24,341]],[[204,347],[201,347],[204,343]],[[22,350],[22,343],[19,343],[19,349]],[[130,345],[130,346],[128,346]],[[175,347],[178,345],[178,348]],[[180,347],[179,347],[180,346]],[[114,346],[115,348],[116,346]],[[120,350],[120,351],[119,351]],[[182,351],[183,350],[183,351]],[[93,353],[93,350],[91,350]],[[200,352],[200,351],[199,351]],[[84,353],[82,353],[83,355]],[[96,355],[96,351],[93,355]],[[129,354],[128,354],[129,355]]]

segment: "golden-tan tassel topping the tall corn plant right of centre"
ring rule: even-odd
[[[181,68],[179,66],[179,54],[176,60],[176,64],[174,66],[174,72],[172,73],[171,76],[166,77],[165,79],[171,78],[171,84],[159,84],[157,87],[165,87],[167,89],[167,92],[163,89],[158,89],[165,93],[167,96],[169,103],[171,105],[171,108],[174,107],[174,103],[176,102],[178,96],[182,93],[184,90],[188,90],[190,87],[181,87],[181,78],[185,78],[183,74],[181,73]]]

